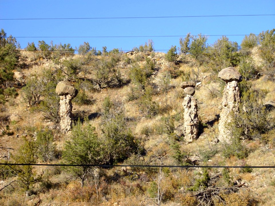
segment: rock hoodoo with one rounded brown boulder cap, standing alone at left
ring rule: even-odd
[[[76,97],[78,91],[68,82],[58,82],[55,92],[60,96],[60,130],[64,134],[72,128],[72,99]]]

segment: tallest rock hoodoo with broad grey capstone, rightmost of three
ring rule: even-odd
[[[228,123],[232,120],[230,112],[239,112],[240,92],[238,82],[242,81],[242,76],[234,67],[227,67],[219,72],[218,77],[226,82],[223,90],[222,110],[219,120],[219,140],[221,142],[228,142],[231,137],[230,131],[227,128]]]

